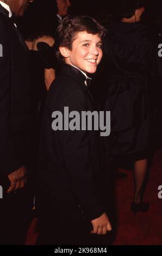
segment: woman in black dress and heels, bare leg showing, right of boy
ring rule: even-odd
[[[145,1],[123,0],[118,4],[119,22],[110,23],[104,40],[104,110],[111,111],[111,135],[105,139],[105,148],[114,163],[134,163],[130,207],[136,214],[147,211],[149,206],[143,202],[143,196],[152,149],[153,63],[157,55],[148,28],[140,23]]]

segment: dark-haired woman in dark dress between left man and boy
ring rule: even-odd
[[[39,10],[39,11],[38,11]],[[17,26],[20,28],[23,38],[29,48],[30,57],[30,101],[32,104],[33,123],[33,163],[36,168],[38,156],[38,144],[43,108],[47,91],[55,79],[57,62],[54,52],[54,16],[57,14],[57,4],[53,0],[35,0],[26,11],[26,14],[18,18]],[[36,177],[33,176],[33,191],[35,193]],[[35,206],[35,203],[34,203]],[[33,211],[37,215],[36,208]]]

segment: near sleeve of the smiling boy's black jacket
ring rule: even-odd
[[[68,93],[59,111],[63,113],[64,107],[68,106],[69,113],[77,111],[88,111],[86,93],[79,89],[74,89]],[[94,220],[104,212],[99,202],[99,191],[95,186],[94,162],[90,150],[90,132],[82,130],[59,131],[61,151],[64,157],[65,169],[71,190],[85,212],[85,215]],[[98,156],[99,157],[99,156]],[[98,170],[99,172],[100,170]]]

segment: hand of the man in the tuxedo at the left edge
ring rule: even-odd
[[[26,174],[27,174],[27,170],[26,170],[26,167],[24,166],[15,170],[15,172],[13,173],[10,173],[8,175],[8,178],[11,182],[11,185],[8,188],[7,192],[10,193],[11,191],[16,191],[19,188],[24,187],[24,185],[26,184]]]

